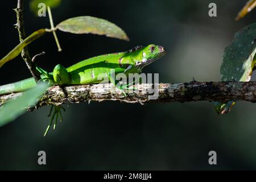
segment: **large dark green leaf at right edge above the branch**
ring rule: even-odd
[[[256,52],[256,23],[236,33],[232,44],[225,48],[221,65],[222,81],[250,81]]]

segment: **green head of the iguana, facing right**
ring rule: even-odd
[[[137,59],[135,60],[136,68],[141,71],[146,65],[154,62],[166,54],[166,50],[162,46],[150,44],[146,47],[138,49]]]

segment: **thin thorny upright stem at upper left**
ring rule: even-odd
[[[18,0],[18,4],[15,10],[17,16],[16,28],[19,32],[19,41],[22,42],[26,38],[24,30],[24,20],[23,20],[23,0]],[[31,75],[35,78],[35,81],[40,80],[40,74],[36,71],[35,63],[32,62],[30,53],[28,52],[27,46],[24,47],[21,53],[22,59],[26,62],[28,69],[30,70]]]

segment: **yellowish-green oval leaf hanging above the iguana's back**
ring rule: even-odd
[[[108,20],[92,16],[77,16],[69,18],[56,26],[59,30],[72,34],[97,34],[106,35],[129,41],[126,33]]]

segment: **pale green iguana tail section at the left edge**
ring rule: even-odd
[[[13,92],[22,92],[34,86],[36,86],[36,82],[34,78],[27,78],[25,80],[0,86],[0,95],[13,93]]]

